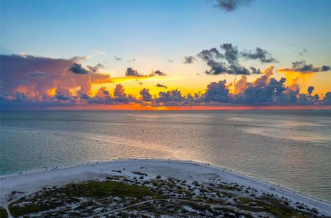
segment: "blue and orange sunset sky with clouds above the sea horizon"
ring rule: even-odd
[[[0,0],[1,109],[331,105],[331,1]]]

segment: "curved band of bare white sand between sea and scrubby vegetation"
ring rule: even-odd
[[[107,175],[117,175],[114,172],[117,170],[121,170],[121,175],[128,177],[132,176],[132,171],[141,171],[148,174],[146,179],[163,175],[165,177],[203,183],[210,182],[212,178],[219,178],[223,182],[235,182],[243,186],[256,188],[260,193],[270,193],[277,195],[277,197],[290,199],[293,204],[291,206],[295,206],[294,204],[299,202],[310,208],[316,208],[320,215],[331,216],[331,204],[328,201],[296,193],[288,188],[270,184],[240,173],[234,173],[225,168],[181,160],[112,160],[109,162],[52,168],[47,171],[43,169],[22,174],[3,175],[0,176],[0,204],[2,206],[8,205],[8,194],[13,190],[34,193],[43,187],[58,186],[89,179],[101,179]]]

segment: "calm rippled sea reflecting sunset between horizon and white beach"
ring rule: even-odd
[[[208,162],[331,201],[330,111],[1,111],[0,174],[114,158]]]

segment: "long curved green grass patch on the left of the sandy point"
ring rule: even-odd
[[[43,191],[40,192],[39,195],[28,199],[28,204],[25,203],[27,199],[23,198],[12,202],[9,204],[8,208],[13,217],[19,217],[34,212],[41,212],[43,210],[52,210],[53,208],[63,206],[68,202],[79,202],[79,197],[99,199],[108,196],[131,197],[134,199],[141,199],[147,196],[155,198],[161,197],[160,195],[153,193],[150,189],[151,188],[146,186],[137,186],[134,184],[126,184],[124,182],[91,180],[88,182],[71,183],[59,188],[43,188]],[[62,201],[62,203],[57,201],[57,199],[61,199],[61,197],[66,199],[65,201]],[[41,202],[40,199],[43,201]],[[39,204],[31,202],[39,202]],[[6,210],[3,211],[3,213],[5,212]]]

